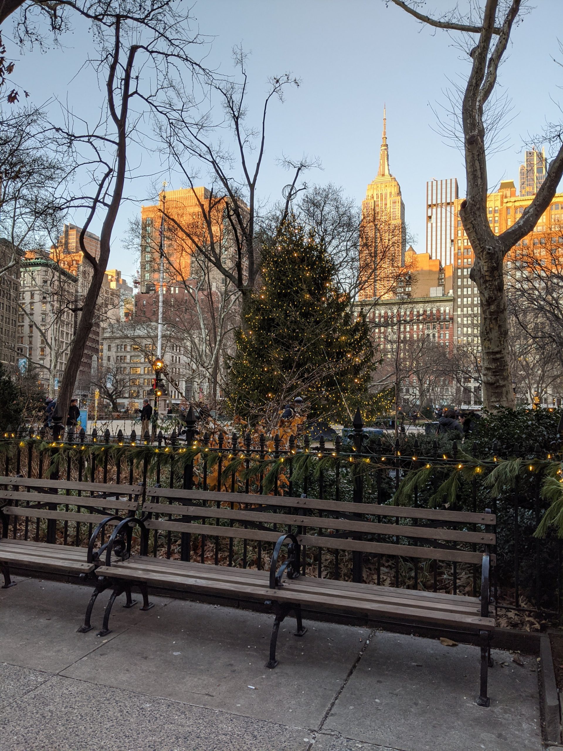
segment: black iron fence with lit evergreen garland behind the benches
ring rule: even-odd
[[[546,502],[540,496],[541,473],[537,466],[547,457],[541,455],[539,447],[536,455],[525,457],[529,477],[516,478],[513,487],[504,488],[495,497],[486,487],[485,478],[490,467],[505,457],[495,454],[479,460],[477,447],[471,441],[463,446],[453,442],[446,451],[439,450],[436,441],[425,451],[419,451],[416,439],[409,442],[404,437],[397,440],[383,437],[367,445],[363,424],[356,420],[345,448],[346,451],[339,436],[333,443],[321,438],[313,445],[308,436],[285,439],[279,435],[251,435],[248,431],[240,436],[236,433],[226,436],[222,432],[216,436],[199,435],[192,421],[181,439],[173,431],[167,437],[158,433],[154,442],[148,434],[141,438],[135,431],[130,436],[124,436],[122,431],[111,436],[108,430],[101,435],[94,430],[86,436],[81,430],[62,438],[50,435],[44,428],[39,432],[31,429],[27,433],[22,430],[5,433],[0,440],[3,454],[0,460],[7,476],[76,482],[76,491],[69,487],[59,490],[59,494],[65,496],[64,500],[60,496],[65,508],[80,505],[75,496],[80,494],[80,482],[85,481],[201,490],[209,493],[209,503],[216,508],[221,502],[212,499],[214,492],[230,493],[233,496],[231,508],[233,504],[242,503],[236,499],[237,493],[290,497],[303,494],[362,504],[361,514],[354,511],[356,517],[376,522],[381,522],[376,507],[393,504],[398,497],[413,508],[433,504],[438,508],[478,513],[491,508],[497,516],[495,593],[498,608],[522,614],[523,621],[526,617],[537,621],[561,615],[561,541],[555,535],[543,539],[533,535],[546,510]],[[426,452],[426,455],[419,455],[419,452]],[[518,454],[518,447],[507,452],[511,457]],[[471,465],[469,474],[462,472],[465,465]],[[422,481],[413,482],[415,475]],[[411,491],[405,493],[409,483]],[[189,503],[207,505],[206,497]],[[241,506],[249,507],[248,503]],[[267,510],[280,511],[274,505],[269,505]],[[212,516],[202,514],[202,517],[205,515]],[[399,517],[395,522],[399,523]],[[416,526],[418,520],[417,517],[401,517],[400,523]],[[467,529],[475,532],[477,526],[468,524]],[[285,529],[280,527],[281,531]],[[28,520],[20,520],[10,533],[26,539],[42,539],[47,529],[39,526],[31,529]],[[77,531],[71,535],[68,526],[59,529],[58,534],[65,544],[86,545],[88,542],[87,534]],[[384,533],[375,534],[373,538],[387,539]],[[401,538],[401,541],[413,547],[424,544],[423,539],[418,538]],[[452,546],[444,542],[446,544]],[[472,545],[468,549],[477,548]],[[186,542],[180,533],[159,535],[155,531],[149,554],[261,569],[266,566],[271,550],[260,541],[233,542],[232,538],[221,540],[218,535],[191,534]],[[319,578],[369,581],[381,586],[414,587],[468,596],[479,594],[477,566],[420,559],[415,550],[412,556],[384,556],[349,553],[338,548],[309,548],[303,571]]]

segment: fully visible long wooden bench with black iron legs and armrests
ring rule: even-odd
[[[278,629],[291,611],[297,620],[295,635],[305,634],[302,606],[324,613],[356,614],[370,620],[399,620],[413,626],[469,632],[477,636],[481,648],[477,703],[489,705],[487,668],[492,664],[490,638],[495,626],[494,618],[489,617],[489,567],[494,563],[489,549],[495,544],[492,534],[495,516],[490,511],[477,514],[160,487],[148,488],[142,511],[141,519],[124,520],[113,532],[118,539],[120,529],[138,523],[140,555],[113,560],[112,535],[107,544],[105,566],[96,569],[96,575],[113,586],[99,635],[109,632],[110,611],[116,597],[125,592],[131,599],[133,585],[143,593],[143,609],[151,607],[147,587],[265,602],[275,614],[268,668],[278,664],[275,658]],[[406,523],[408,520],[411,522]],[[182,559],[170,558],[172,535],[181,540]],[[191,535],[201,536],[201,562],[191,561]],[[152,555],[149,555],[150,537]],[[167,544],[167,557],[158,555],[161,537]],[[259,562],[260,547],[271,544],[269,572],[218,566],[217,552],[215,566],[209,565],[205,562],[205,538],[215,541],[228,538],[231,552],[233,541],[237,539],[244,546],[254,541]],[[287,555],[278,568],[284,547],[287,547]],[[321,550],[332,549],[352,555],[402,556],[453,562],[453,566],[458,563],[480,566],[482,597],[305,576],[307,547],[317,548],[319,555]],[[232,555],[229,561],[232,562]]]

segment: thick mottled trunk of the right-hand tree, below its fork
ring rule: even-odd
[[[480,295],[480,339],[483,356],[483,406],[514,407],[508,351],[508,312],[504,294],[504,264],[501,247],[486,247],[475,253],[471,279]]]

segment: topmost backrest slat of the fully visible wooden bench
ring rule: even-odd
[[[349,503],[318,498],[292,496],[263,496],[246,493],[219,493],[213,490],[182,490],[180,488],[149,487],[146,498],[177,498],[220,503],[250,503],[257,505],[287,506],[289,508],[315,508],[319,511],[337,511],[370,516],[406,517],[454,523],[495,524],[495,514],[476,514],[473,511],[441,511],[436,508],[411,508],[410,506],[384,506],[375,503]]]

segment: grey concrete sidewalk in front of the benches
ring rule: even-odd
[[[17,578],[0,590],[2,751],[540,751],[537,662],[477,647],[153,598],[79,634],[90,589]],[[103,602],[102,602],[103,601]]]

